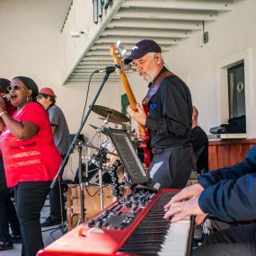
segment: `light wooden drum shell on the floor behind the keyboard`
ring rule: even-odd
[[[112,190],[110,187],[103,188],[103,205],[109,206],[113,202]],[[81,199],[79,185],[68,185],[66,196],[66,221],[67,229],[71,230],[81,219]],[[99,213],[101,209],[100,188],[90,186],[84,188],[84,216],[86,219]]]

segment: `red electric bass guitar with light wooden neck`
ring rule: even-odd
[[[137,101],[128,83],[128,78],[125,72],[124,56],[122,52],[123,50],[119,48],[119,44],[111,45],[110,55],[114,60],[115,66],[117,66],[118,68],[119,77],[128,95],[128,101],[130,103],[131,109],[137,111]],[[149,110],[147,105],[143,104],[143,108],[146,112],[146,116],[148,116]],[[140,147],[144,150],[144,163],[148,168],[151,160],[151,151],[148,147],[149,133],[147,128],[145,128],[142,124],[138,123],[137,125],[138,125],[139,132],[143,137],[143,141],[140,143]]]

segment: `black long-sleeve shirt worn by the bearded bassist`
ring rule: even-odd
[[[159,75],[165,71],[163,67]],[[149,129],[151,147],[168,148],[190,142],[192,101],[190,89],[181,78],[177,75],[165,77],[148,107],[145,126]]]

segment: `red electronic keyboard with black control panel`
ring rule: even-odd
[[[190,255],[193,222],[172,224],[163,206],[177,190],[130,193],[79,225],[38,256]]]

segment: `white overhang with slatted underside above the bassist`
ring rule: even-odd
[[[117,40],[130,52],[138,40],[153,39],[164,52],[195,31],[201,31],[203,38],[207,22],[215,22],[234,4],[233,0],[74,0],[61,31],[63,84],[88,82],[94,70],[112,66],[110,45]],[[102,81],[103,75],[94,75],[93,81]],[[111,74],[110,81],[119,81],[119,76]]]

